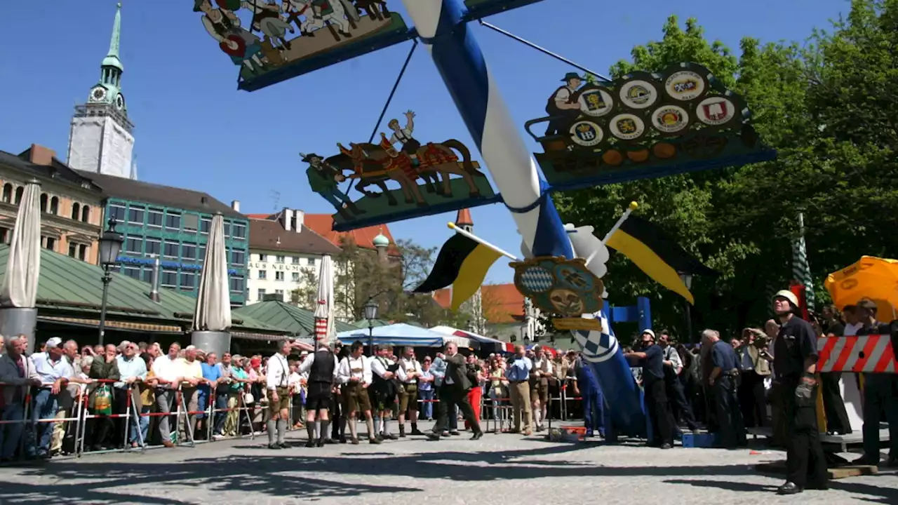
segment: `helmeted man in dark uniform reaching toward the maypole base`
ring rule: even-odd
[[[648,417],[652,420],[652,438],[650,446],[663,449],[674,447],[674,416],[670,404],[667,403],[665,387],[665,353],[655,343],[655,332],[642,332],[640,350],[627,352],[624,358],[638,361],[642,367],[642,384],[646,392]]]

